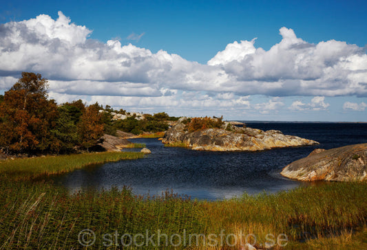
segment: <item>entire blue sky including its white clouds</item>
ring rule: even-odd
[[[3,1],[0,94],[224,120],[367,122],[366,1]]]

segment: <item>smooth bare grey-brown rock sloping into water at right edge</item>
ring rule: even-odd
[[[315,149],[280,174],[300,181],[367,181],[367,144]]]

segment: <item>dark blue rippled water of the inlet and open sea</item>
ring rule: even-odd
[[[315,148],[335,148],[367,142],[367,124],[251,123],[249,127],[281,130],[319,141],[320,145],[277,148],[262,152],[203,152],[165,148],[157,139],[131,139],[145,143],[151,154],[144,159],[106,163],[54,178],[70,190],[130,186],[134,194],[161,194],[173,190],[191,198],[223,199],[243,192],[277,192],[311,185],[280,176],[284,166],[306,157]]]

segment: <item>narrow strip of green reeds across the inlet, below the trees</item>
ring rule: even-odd
[[[46,156],[0,161],[0,175],[13,180],[36,179],[45,175],[70,172],[91,164],[138,159],[140,152],[92,152],[78,155]]]

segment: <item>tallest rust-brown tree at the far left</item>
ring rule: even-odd
[[[56,102],[48,100],[48,81],[41,74],[21,76],[0,103],[0,146],[16,152],[46,150],[52,145]]]

